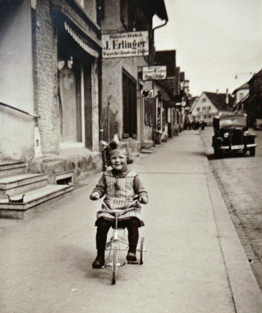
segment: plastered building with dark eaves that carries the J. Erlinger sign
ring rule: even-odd
[[[132,38],[131,32],[148,31],[147,38],[143,38],[143,42],[148,42],[148,55],[125,57],[125,54],[120,54],[120,57],[111,58],[106,54],[112,51],[109,46],[102,52],[101,139],[110,141],[118,134],[121,140],[129,142],[134,153],[139,153],[140,147],[153,146],[154,105],[161,105],[162,101],[158,95],[163,88],[154,80],[143,81],[142,68],[154,65],[152,19],[156,14],[168,21],[165,3],[164,0],[104,0],[101,3],[104,13],[101,18],[102,36],[116,36],[112,49],[122,53],[125,45],[130,44],[121,39],[125,33]],[[139,40],[134,37],[132,44],[141,45]]]

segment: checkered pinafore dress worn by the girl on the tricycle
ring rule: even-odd
[[[134,178],[138,175],[134,172],[129,171],[125,177],[114,177],[112,171],[104,172],[106,181],[106,191],[104,202],[111,210],[121,210],[125,209],[128,204],[133,202],[134,193]],[[140,212],[140,204],[136,202],[130,207],[126,213],[120,215],[118,220],[129,219],[131,217],[136,217],[144,224],[142,221],[142,215]],[[106,218],[107,220],[114,221],[114,215],[109,213],[108,210],[102,205],[102,208],[97,212],[97,218]]]

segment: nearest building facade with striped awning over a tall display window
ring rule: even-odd
[[[2,159],[75,180],[102,168],[100,11],[93,0],[1,1]]]

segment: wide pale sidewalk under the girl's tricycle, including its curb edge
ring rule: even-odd
[[[129,168],[149,192],[143,265],[92,270],[95,213],[86,187],[28,220],[0,219],[0,312],[261,313],[262,295],[197,131]],[[72,288],[76,292],[70,291]]]

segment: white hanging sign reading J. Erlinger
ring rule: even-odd
[[[102,58],[149,55],[148,31],[102,35]]]

